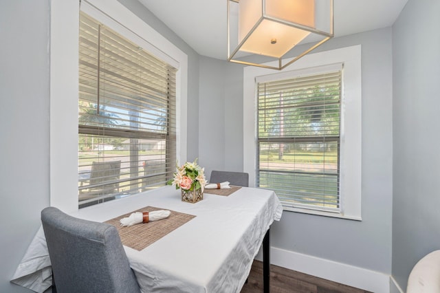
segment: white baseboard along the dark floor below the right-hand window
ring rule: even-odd
[[[260,250],[256,259],[263,259],[262,255]],[[391,279],[388,274],[345,263],[320,259],[307,254],[274,247],[270,248],[270,263],[370,292],[390,292]]]

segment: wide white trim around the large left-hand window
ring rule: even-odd
[[[117,0],[83,0],[114,23],[177,61],[177,159],[186,161],[188,56]],[[50,204],[78,210],[78,35],[77,1],[52,1],[50,26]],[[100,20],[100,19],[98,19]],[[111,26],[109,26],[111,27]]]

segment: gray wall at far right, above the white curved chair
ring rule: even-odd
[[[440,1],[410,0],[393,25],[393,277],[405,290],[440,249]]]

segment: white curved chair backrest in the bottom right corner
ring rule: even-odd
[[[440,250],[422,257],[408,277],[406,293],[440,292]]]

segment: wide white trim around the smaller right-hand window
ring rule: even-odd
[[[243,69],[243,169],[250,174],[250,186],[256,178],[256,78],[272,74],[291,74],[312,67],[343,63],[341,115],[341,213],[284,207],[299,213],[362,220],[362,87],[361,45],[309,54],[281,72],[261,67]],[[270,65],[270,63],[267,63]]]

